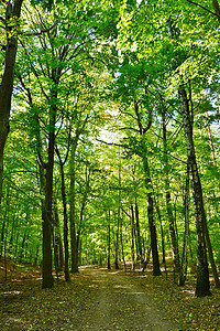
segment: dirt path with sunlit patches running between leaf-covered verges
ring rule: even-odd
[[[179,330],[135,277],[101,269],[87,273],[96,300],[87,306],[78,330]]]

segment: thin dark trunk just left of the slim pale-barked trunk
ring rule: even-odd
[[[170,186],[169,186],[169,173],[168,173],[169,164],[168,164],[168,158],[167,158],[167,142],[166,142],[166,113],[164,109],[162,111],[162,120],[163,120],[166,211],[167,211],[168,226],[169,226],[169,233],[170,233],[170,238],[172,238],[174,267],[176,270],[178,270],[179,269],[179,252],[178,252],[178,242],[177,242],[176,231],[175,231],[173,207],[172,207],[172,203],[170,203]]]

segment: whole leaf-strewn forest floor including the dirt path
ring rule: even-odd
[[[220,330],[220,291],[194,296],[195,277],[185,287],[174,276],[81,267],[42,289],[41,270],[0,264],[0,330]]]

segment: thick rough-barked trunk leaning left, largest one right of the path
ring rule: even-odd
[[[184,87],[179,85],[179,99],[182,106],[182,116],[187,142],[188,162],[191,179],[193,199],[196,215],[197,228],[197,285],[196,296],[205,297],[210,295],[209,269],[207,261],[207,249],[205,241],[205,224],[207,223],[204,209],[202,189],[196,161],[196,152],[193,138],[193,119],[190,118],[189,104]]]

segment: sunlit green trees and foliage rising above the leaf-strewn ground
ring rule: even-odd
[[[2,285],[94,266],[219,297],[219,24],[218,0],[0,1]]]

